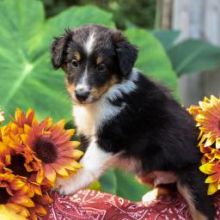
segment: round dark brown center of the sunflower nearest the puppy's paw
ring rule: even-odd
[[[56,145],[50,140],[40,138],[35,143],[37,157],[44,163],[53,163],[57,159]]]

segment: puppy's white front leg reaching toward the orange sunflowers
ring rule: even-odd
[[[92,141],[80,161],[82,168],[68,179],[59,179],[56,188],[66,195],[88,186],[117,160],[117,156],[102,150],[96,141]]]

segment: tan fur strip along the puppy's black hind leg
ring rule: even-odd
[[[190,190],[186,186],[182,186],[181,184],[177,184],[177,188],[179,193],[183,196],[183,198],[186,200],[190,214],[193,220],[208,220],[206,216],[204,216],[199,210],[196,209],[194,204],[193,196],[190,192]]]

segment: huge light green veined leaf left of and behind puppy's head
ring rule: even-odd
[[[93,6],[72,7],[45,20],[40,1],[2,0],[0,20],[0,106],[9,114],[16,107],[32,107],[40,117],[69,118],[71,103],[63,74],[50,64],[52,39],[67,27],[87,23],[112,27],[111,15]]]

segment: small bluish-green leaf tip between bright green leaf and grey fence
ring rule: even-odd
[[[180,31],[154,30],[152,34],[161,42],[165,50],[168,50],[174,45],[177,37],[180,35]]]

